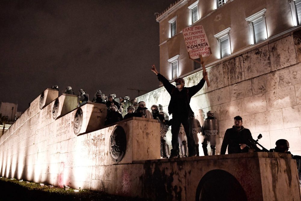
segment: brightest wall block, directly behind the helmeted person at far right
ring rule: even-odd
[[[301,151],[301,134],[299,127],[270,131],[270,138],[272,145],[279,139],[286,139],[290,143],[290,151]]]

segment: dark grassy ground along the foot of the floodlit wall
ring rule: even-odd
[[[63,188],[41,187],[37,183],[26,183],[26,181],[11,180],[0,178],[0,201],[18,201],[18,200],[42,200],[42,201],[98,201],[98,200],[128,200],[142,201],[145,199],[128,198],[121,196],[112,196],[92,190],[80,190],[74,192],[74,189],[64,190]]]

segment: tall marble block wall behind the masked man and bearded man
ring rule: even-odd
[[[283,138],[289,141],[293,154],[301,155],[300,41],[301,34],[295,32],[207,68],[211,86],[205,84],[190,103],[200,123],[206,112],[213,110],[222,142],[225,130],[240,115],[253,138],[263,135],[259,143],[265,148],[274,148],[276,140]],[[189,87],[202,77],[200,69],[183,78]],[[167,112],[170,96],[160,87],[137,100],[145,101],[147,108],[161,104]],[[218,153],[220,146],[216,147]]]

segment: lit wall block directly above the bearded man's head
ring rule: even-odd
[[[237,115],[241,115],[240,99],[221,104],[219,120],[231,119]]]

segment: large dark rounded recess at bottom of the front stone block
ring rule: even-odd
[[[207,172],[197,186],[195,200],[199,201],[243,201],[246,193],[237,179],[224,170]]]

